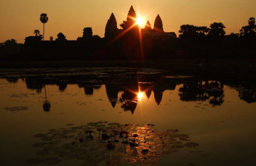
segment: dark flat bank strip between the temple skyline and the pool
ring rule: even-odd
[[[66,68],[66,67],[138,67],[173,70],[200,76],[216,76],[236,79],[256,80],[256,59],[151,59],[143,63],[139,60],[99,60],[99,61],[1,61],[0,69]],[[249,63],[253,67],[249,67]],[[199,63],[202,66],[199,67]],[[238,67],[237,67],[238,66]]]

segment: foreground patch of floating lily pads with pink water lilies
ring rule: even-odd
[[[47,134],[36,134],[34,137],[41,139],[41,142],[32,146],[39,149],[36,154],[40,158],[28,159],[27,163],[56,164],[77,159],[82,160],[83,165],[102,162],[105,165],[159,165],[161,157],[176,152],[177,148],[199,146],[191,142],[188,135],[179,134],[177,129],[162,132],[155,129],[153,124],[107,123],[91,122],[79,127],[50,129]]]

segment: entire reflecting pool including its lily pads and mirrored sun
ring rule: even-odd
[[[244,82],[148,68],[2,69],[1,165],[254,165],[256,86]]]

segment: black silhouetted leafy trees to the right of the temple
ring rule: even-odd
[[[225,36],[225,28],[223,23],[216,22],[210,28],[182,25],[176,50],[187,53],[181,54],[183,58],[255,58],[255,18],[248,20],[240,34]]]

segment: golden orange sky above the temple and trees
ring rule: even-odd
[[[164,31],[177,36],[182,24],[209,26],[212,22],[222,22],[226,34],[238,33],[250,17],[256,17],[256,0],[1,0],[0,42],[13,38],[23,43],[26,36],[34,35],[35,29],[42,34],[41,13],[49,17],[46,40],[49,36],[55,40],[59,32],[68,40],[76,40],[84,27],[92,27],[93,35],[103,37],[110,14],[114,13],[120,28],[131,5],[137,16],[146,15],[144,24],[149,20],[153,27],[159,14]]]

